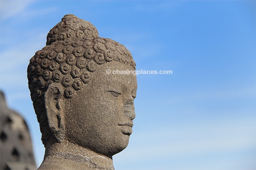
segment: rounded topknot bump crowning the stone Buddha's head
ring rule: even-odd
[[[74,14],[67,14],[61,19],[60,23],[49,31],[46,45],[75,37],[83,39],[95,38],[99,37],[99,33],[90,22],[79,19]]]

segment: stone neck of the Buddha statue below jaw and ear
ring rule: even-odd
[[[114,170],[112,158],[70,142],[46,147],[44,161],[38,170],[55,169]]]

